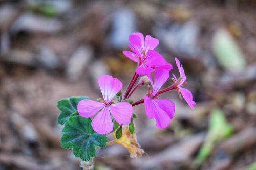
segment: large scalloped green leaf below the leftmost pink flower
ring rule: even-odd
[[[81,116],[71,116],[61,133],[60,143],[63,148],[72,148],[76,157],[89,161],[95,157],[95,147],[105,147],[106,135],[93,131],[92,120]]]

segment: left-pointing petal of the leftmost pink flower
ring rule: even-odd
[[[83,99],[77,105],[77,111],[82,117],[92,117],[100,109],[106,106],[104,103]]]

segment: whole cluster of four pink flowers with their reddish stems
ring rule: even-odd
[[[96,114],[92,120],[92,127],[94,131],[100,134],[108,134],[113,131],[113,120],[116,120],[120,125],[129,123],[133,115],[133,106],[141,103],[145,104],[147,117],[150,119],[155,118],[158,128],[167,127],[174,116],[175,104],[169,99],[159,99],[159,95],[170,90],[177,90],[180,98],[183,96],[190,108],[194,109],[196,104],[193,101],[192,93],[183,88],[183,85],[186,84],[186,75],[177,58],[175,58],[175,61],[180,77],[177,79],[173,74],[172,80],[174,83],[160,90],[169,79],[169,71],[173,69],[173,66],[155,51],[159,44],[158,39],[150,35],[144,38],[141,33],[133,33],[129,36],[129,41],[130,44],[128,46],[132,52],[123,51],[123,54],[137,62],[138,66],[124,96],[117,96],[122,89],[122,83],[117,78],[103,75],[98,79],[103,98],[98,99],[98,101],[84,99],[77,106],[78,113],[82,117],[92,117]],[[147,76],[147,79],[143,76],[134,87],[140,75]],[[132,104],[126,102],[127,98],[130,98],[139,86],[147,84],[147,82],[150,82],[150,84],[147,85],[148,92],[143,99]]]

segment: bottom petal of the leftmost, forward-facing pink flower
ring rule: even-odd
[[[100,134],[108,134],[113,130],[113,123],[108,107],[99,112],[92,121],[93,130]]]

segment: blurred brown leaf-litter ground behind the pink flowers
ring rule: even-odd
[[[60,147],[56,102],[99,98],[103,74],[125,90],[136,64],[122,51],[133,32],[158,38],[176,75],[180,59],[197,105],[162,94],[176,104],[166,129],[135,106],[146,153],[131,159],[115,144],[97,151],[95,169],[256,169],[255,9],[253,0],[1,0],[0,169],[81,169]]]

